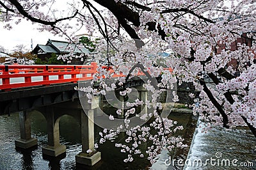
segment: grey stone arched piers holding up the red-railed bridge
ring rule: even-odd
[[[79,96],[83,96],[79,95]],[[143,102],[148,100],[148,91],[143,86],[136,86],[135,93],[131,93],[131,97],[135,100],[139,98]],[[80,103],[81,98],[74,98],[68,102],[60,102],[55,104],[43,105],[34,108],[44,115],[47,122],[47,136],[48,143],[42,147],[42,154],[50,157],[58,157],[66,152],[66,146],[60,143],[60,129],[59,122],[61,116],[68,114],[75,118],[81,127],[81,153],[76,155],[76,163],[86,166],[93,166],[100,160],[100,152],[94,151],[94,111],[99,107],[100,97],[94,97],[95,100],[92,104],[87,102]],[[80,100],[79,100],[80,99]],[[88,98],[83,98],[81,101],[87,101]],[[120,118],[124,118],[125,111],[125,97],[118,96],[118,106],[122,109]],[[59,100],[58,100],[59,101]],[[141,106],[141,113],[147,113],[147,105]],[[20,121],[20,139],[15,141],[17,148],[31,148],[36,146],[37,139],[31,137],[31,110],[25,109],[19,112]],[[87,153],[88,150],[92,150],[91,153]]]

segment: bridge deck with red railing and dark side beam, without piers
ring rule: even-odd
[[[0,65],[0,114],[24,111],[74,101],[74,90],[80,81],[93,79],[97,63],[91,65]],[[103,66],[108,68],[108,66]],[[168,69],[172,71],[171,69]],[[110,72],[114,72],[110,68]],[[144,75],[138,72],[137,75]],[[115,73],[113,77],[124,76]],[[141,86],[139,77],[129,79],[125,86]]]

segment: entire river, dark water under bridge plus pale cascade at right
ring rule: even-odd
[[[66,155],[63,158],[42,157],[42,146],[47,144],[47,130],[44,116],[39,112],[33,112],[31,118],[32,137],[38,139],[38,147],[33,150],[16,150],[15,139],[19,139],[19,114],[0,116],[0,169],[80,169],[76,167],[75,155],[81,151],[81,131],[79,125],[71,116],[62,116],[60,119],[60,143],[67,146]],[[196,127],[196,120],[191,114],[171,114],[173,120],[184,125],[182,134],[185,143],[190,144]],[[99,141],[99,127],[95,126],[95,141]],[[239,162],[253,162],[253,167],[221,167],[211,166],[187,166],[186,169],[256,169],[255,163],[255,139],[247,129],[226,131],[221,128],[212,129],[207,134],[202,134],[200,128],[196,130],[195,139],[188,160],[201,158],[216,158],[216,152],[220,151],[223,157],[230,160],[237,158]],[[119,140],[120,137],[116,140]],[[115,148],[115,140],[99,145],[102,160],[90,169],[182,169],[177,162],[166,166],[165,160],[168,153],[159,154],[159,160],[153,164],[147,158],[140,158],[132,163],[125,163],[125,155]],[[177,151],[175,160],[186,160],[189,148]],[[86,169],[89,169],[86,167]]]

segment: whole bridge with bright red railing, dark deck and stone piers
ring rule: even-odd
[[[27,149],[38,144],[37,139],[31,136],[30,120],[33,114],[31,111],[38,111],[47,121],[48,143],[42,147],[43,155],[50,157],[62,155],[66,152],[66,146],[60,143],[59,121],[61,116],[68,114],[75,118],[81,127],[82,151],[76,155],[76,164],[93,166],[98,162],[100,152],[93,152],[93,156],[84,155],[88,155],[87,150],[93,150],[93,123],[99,120],[94,119],[93,110],[103,107],[100,106],[103,104],[100,100],[103,98],[95,97],[97,100],[93,104],[80,102],[80,98],[84,98],[84,101],[88,98],[83,91],[74,89],[80,81],[92,80],[93,74],[97,73],[97,67],[97,63],[91,63],[91,65],[0,65],[0,115],[19,112],[20,139],[15,141],[15,147]],[[109,70],[108,66],[102,68]],[[109,71],[114,72],[111,67]],[[147,75],[146,72],[144,73]],[[138,71],[136,75],[144,75],[144,73]],[[113,77],[121,76],[124,76],[121,72],[113,75]],[[145,102],[147,91],[140,88],[144,83],[140,78],[132,77],[124,85],[138,87],[138,98]],[[124,97],[118,96],[116,100],[124,101]],[[123,103],[121,107],[124,111]],[[144,110],[147,112],[147,109]],[[107,117],[99,116],[99,118],[99,121],[102,121],[102,118],[109,120],[108,115]],[[110,121],[107,122],[108,125],[112,125]]]

